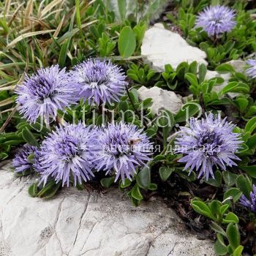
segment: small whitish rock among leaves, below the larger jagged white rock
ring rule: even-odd
[[[173,91],[167,91],[157,86],[150,89],[145,86],[141,86],[138,89],[139,98],[144,100],[152,98],[152,113],[157,115],[159,110],[166,109],[171,113],[178,113],[178,110],[182,107],[181,97],[178,97]]]

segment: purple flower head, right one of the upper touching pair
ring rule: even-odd
[[[110,61],[83,61],[70,72],[70,76],[80,86],[80,97],[97,105],[118,102],[127,85],[120,67]]]

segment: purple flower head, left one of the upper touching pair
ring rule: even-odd
[[[63,110],[74,104],[77,88],[69,82],[65,69],[58,65],[41,68],[30,77],[26,75],[23,83],[18,86],[18,110],[30,123],[40,116],[49,123],[49,118],[56,118],[57,110]]]

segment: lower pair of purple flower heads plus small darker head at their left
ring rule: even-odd
[[[62,186],[89,181],[96,171],[132,179],[137,168],[151,159],[152,143],[146,133],[133,124],[108,124],[102,127],[86,127],[83,124],[68,124],[56,127],[40,148],[24,148],[13,161],[15,170],[21,171],[32,165],[27,157],[35,154],[34,170],[41,176],[44,185],[54,179]]]

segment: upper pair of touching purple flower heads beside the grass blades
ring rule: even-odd
[[[97,105],[118,102],[124,95],[126,76],[110,61],[84,61],[71,72],[58,65],[26,75],[16,89],[18,110],[30,123],[42,118],[49,124],[57,111],[76,104],[80,98]]]

